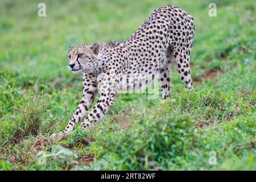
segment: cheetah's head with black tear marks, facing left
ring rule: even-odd
[[[100,44],[81,45],[71,47],[68,52],[68,68],[73,73],[98,68],[99,60],[97,55]]]

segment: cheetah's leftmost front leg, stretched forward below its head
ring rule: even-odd
[[[90,73],[84,73],[82,77],[83,82],[83,94],[82,100],[77,107],[73,117],[68,122],[68,126],[65,130],[61,131],[61,134],[65,134],[68,131],[72,131],[75,127],[76,122],[80,122],[85,117],[86,111],[92,106],[93,100],[97,95],[97,78]]]

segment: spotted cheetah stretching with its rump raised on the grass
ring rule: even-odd
[[[179,7],[168,5],[154,10],[127,40],[71,47],[68,68],[73,73],[83,73],[83,94],[75,114],[61,134],[72,131],[75,123],[88,129],[114,104],[114,97],[121,87],[140,87],[155,74],[162,99],[170,97],[172,63],[176,64],[185,89],[192,90],[189,57],[194,32],[192,16]],[[149,78],[135,83],[129,82],[127,75],[149,75]],[[100,98],[89,112],[97,94]]]

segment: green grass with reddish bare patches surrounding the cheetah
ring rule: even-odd
[[[0,169],[255,170],[255,1],[0,1]],[[208,16],[210,2],[217,17]],[[68,46],[127,39],[152,10],[195,18],[195,92],[172,69],[172,97],[119,94],[88,131],[52,140],[82,94]],[[240,16],[228,9],[240,12]],[[216,164],[210,164],[210,151]]]

